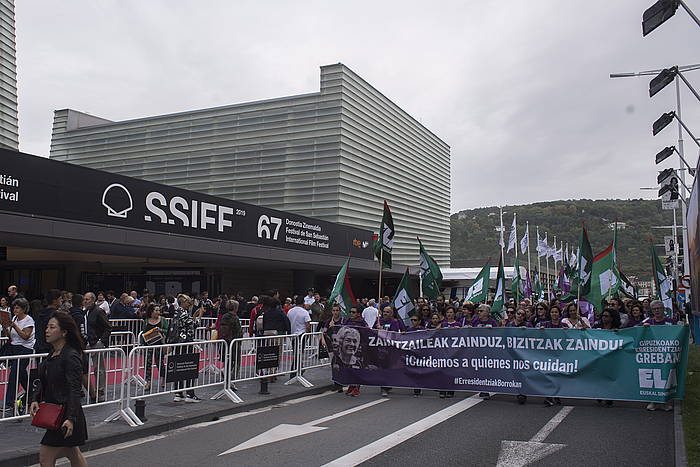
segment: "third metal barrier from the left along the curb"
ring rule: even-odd
[[[235,383],[296,373],[299,358],[295,349],[301,344],[300,338],[300,335],[289,334],[233,339],[229,345],[229,358],[226,359],[226,384],[212,399],[226,395],[232,401],[241,403],[243,399],[231,390]],[[294,380],[292,378],[285,384]]]

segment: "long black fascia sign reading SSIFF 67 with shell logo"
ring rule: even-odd
[[[372,259],[372,233],[0,150],[0,211]]]

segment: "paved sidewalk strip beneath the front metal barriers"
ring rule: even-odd
[[[239,383],[238,395],[242,404],[235,404],[227,398],[210,400],[221,386],[199,389],[197,395],[203,400],[192,404],[173,402],[173,395],[157,396],[146,399],[146,418],[143,425],[132,428],[123,420],[105,423],[104,419],[117,410],[116,404],[85,409],[88,424],[88,441],[81,448],[83,452],[151,436],[195,423],[215,420],[217,417],[236,412],[245,412],[258,407],[277,404],[288,399],[317,394],[331,386],[330,367],[313,368],[304,372],[304,377],[314,386],[305,388],[298,382],[290,385],[284,383],[287,376],[278,377],[276,383],[270,383],[269,395],[258,394],[260,383],[248,381]],[[133,407],[132,407],[133,409]],[[0,465],[3,467],[26,466],[39,462],[39,442],[45,430],[30,425],[29,419],[0,422]]]

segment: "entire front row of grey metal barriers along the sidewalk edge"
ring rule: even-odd
[[[325,355],[319,355],[322,339],[322,333],[315,332],[242,337],[230,344],[224,340],[201,340],[149,346],[138,344],[140,333],[136,338],[132,331],[116,331],[114,347],[84,352],[82,405],[89,408],[116,404],[116,411],[105,421],[123,419],[130,426],[137,426],[143,424],[132,410],[137,399],[220,386],[212,399],[226,396],[240,403],[243,400],[233,390],[235,383],[259,380],[262,387],[269,378],[284,375],[291,376],[285,384],[299,382],[311,387],[300,373],[329,364]],[[125,348],[130,348],[128,353]],[[46,356],[0,357],[0,396],[8,405],[8,410],[0,413],[0,422],[29,417],[26,408],[33,382]]]

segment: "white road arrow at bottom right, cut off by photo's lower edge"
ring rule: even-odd
[[[564,406],[552,417],[530,441],[501,441],[501,451],[498,454],[496,467],[523,467],[530,465],[550,454],[566,447],[566,444],[544,443],[552,431],[564,421],[574,410],[572,406]]]

